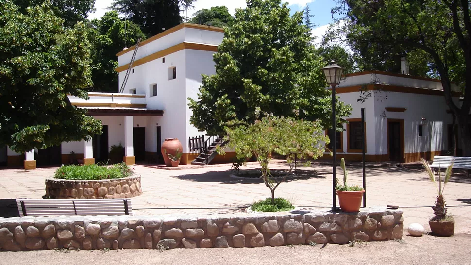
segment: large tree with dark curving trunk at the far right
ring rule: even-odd
[[[341,0],[352,21],[352,48],[378,64],[404,53],[427,63],[441,79],[444,97],[456,116],[463,155],[471,156],[471,4],[466,0]],[[452,100],[451,83],[463,88],[464,100]]]

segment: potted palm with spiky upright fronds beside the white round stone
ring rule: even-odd
[[[438,185],[435,179],[435,171],[430,168],[430,165],[427,161],[422,158],[422,164],[427,170],[428,176],[430,180],[435,184],[435,188],[437,188],[438,196],[437,200],[435,201],[435,206],[432,207],[434,209],[435,216],[430,219],[428,222],[430,225],[430,230],[432,230],[432,234],[438,236],[452,236],[454,235],[454,218],[451,215],[447,215],[447,208],[445,207],[445,197],[443,197],[443,190],[445,189],[446,184],[450,180],[452,175],[452,163],[447,167],[445,171],[445,176],[441,176],[440,169],[438,168]],[[442,184],[443,179],[443,184]]]

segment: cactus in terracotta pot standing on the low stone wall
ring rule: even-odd
[[[340,185],[338,179],[336,179],[337,184],[335,188],[340,209],[344,212],[358,212],[360,211],[361,199],[365,190],[359,186],[347,185],[348,169],[345,167],[344,158],[341,159],[340,166],[343,169],[343,185]]]

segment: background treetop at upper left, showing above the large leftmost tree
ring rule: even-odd
[[[40,5],[43,2],[51,2],[51,9],[54,14],[64,19],[64,26],[73,28],[79,21],[85,21],[88,13],[94,11],[95,0],[13,0],[24,14],[27,8]]]

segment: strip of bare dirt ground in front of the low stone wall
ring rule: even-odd
[[[471,264],[471,234],[439,238],[405,236],[401,241],[362,242],[354,246],[317,245],[263,248],[198,248],[1,252],[0,265],[24,264]]]

